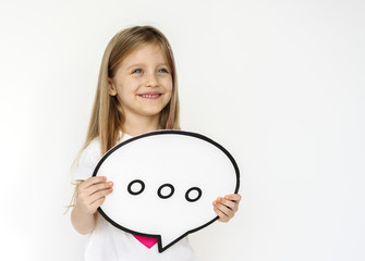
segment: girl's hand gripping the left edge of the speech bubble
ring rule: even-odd
[[[112,192],[112,182],[105,176],[93,176],[77,186],[76,204],[84,213],[94,214],[107,195]]]

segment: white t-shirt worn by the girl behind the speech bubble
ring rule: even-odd
[[[124,135],[122,141],[129,138],[131,136]],[[100,141],[95,139],[82,152],[73,178],[85,181],[90,177],[100,158]],[[100,214],[95,229],[88,235],[84,258],[85,261],[195,261],[187,237],[160,253],[157,244],[148,249],[132,234],[114,227]]]

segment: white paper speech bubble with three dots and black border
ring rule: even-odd
[[[182,130],[117,145],[97,164],[97,175],[114,184],[99,213],[120,229],[157,238],[159,252],[218,220],[212,201],[240,187],[238,164],[222,146]]]

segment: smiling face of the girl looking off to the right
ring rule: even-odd
[[[130,53],[109,80],[109,94],[118,96],[126,121],[159,117],[172,92],[172,76],[161,48],[145,44]]]

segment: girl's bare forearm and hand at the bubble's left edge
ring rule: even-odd
[[[89,177],[76,186],[76,203],[71,213],[73,227],[80,234],[92,233],[96,225],[97,209],[112,192],[112,183],[104,176]]]

